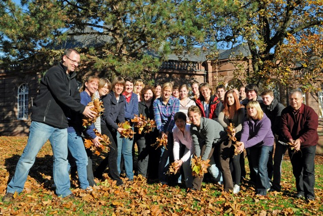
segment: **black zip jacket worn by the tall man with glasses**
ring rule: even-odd
[[[33,107],[31,120],[53,127],[67,128],[70,112],[83,113],[80,103],[76,73],[67,74],[67,67],[61,62],[51,67],[40,80],[40,88]]]

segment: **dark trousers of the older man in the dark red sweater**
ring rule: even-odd
[[[288,149],[296,180],[297,193],[304,195],[305,198],[315,198],[315,151],[316,146],[301,148],[298,152]]]

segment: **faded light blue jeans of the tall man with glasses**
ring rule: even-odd
[[[53,153],[53,179],[56,185],[56,194],[66,197],[72,193],[67,161],[67,129],[52,127],[36,121],[31,122],[27,145],[19,158],[15,175],[8,184],[7,193],[22,192],[29,170],[48,139]]]

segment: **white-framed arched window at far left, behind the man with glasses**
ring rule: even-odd
[[[26,83],[18,88],[18,119],[28,119],[28,86]]]

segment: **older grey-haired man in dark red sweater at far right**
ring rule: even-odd
[[[314,157],[318,141],[318,116],[303,102],[302,92],[289,94],[290,106],[282,111],[281,132],[284,140],[294,145],[288,150],[296,179],[296,197],[314,200]]]

